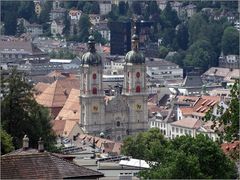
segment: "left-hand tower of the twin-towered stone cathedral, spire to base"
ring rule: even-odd
[[[80,66],[80,124],[85,133],[99,135],[104,130],[104,92],[102,87],[102,58],[96,52],[95,40],[90,32],[88,52],[82,56]]]

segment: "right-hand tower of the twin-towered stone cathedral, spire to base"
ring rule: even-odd
[[[146,65],[139,52],[136,27],[132,36],[132,50],[125,56],[123,96],[129,108],[127,135],[148,129]]]

